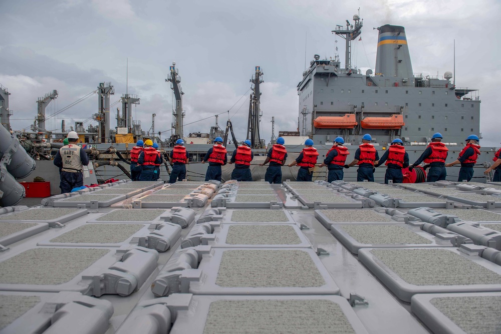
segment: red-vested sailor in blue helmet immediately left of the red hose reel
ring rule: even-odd
[[[404,180],[402,168],[409,166],[409,154],[405,152],[404,143],[400,138],[393,139],[388,150],[374,167],[381,166],[385,161],[385,166],[388,168],[384,174],[384,183],[388,184],[389,180],[393,183],[402,183]]]

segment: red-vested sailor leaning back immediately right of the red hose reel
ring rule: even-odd
[[[416,162],[409,166],[409,171],[412,171],[414,167],[423,161],[425,164],[429,164],[430,169],[428,171],[428,176],[426,176],[426,182],[442,181],[447,177],[445,159],[447,159],[448,149],[445,147],[445,144],[442,143],[442,138],[439,132],[433,134],[431,143],[429,143],[426,150],[424,150],[423,154],[421,154]]]

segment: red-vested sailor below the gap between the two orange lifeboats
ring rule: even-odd
[[[374,145],[371,144],[372,137],[368,133],[362,137],[362,144],[355,151],[355,159],[348,165],[344,165],[345,168],[350,168],[354,165],[358,165],[357,170],[357,181],[367,180],[369,182],[374,182],[374,164],[379,160],[379,154],[377,153]]]

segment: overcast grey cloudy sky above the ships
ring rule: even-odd
[[[479,90],[481,144],[499,146],[499,0],[0,0],[0,84],[12,94],[11,126],[33,123],[37,98],[54,89],[59,96],[47,115],[100,82],[111,82],[111,102],[119,100],[127,89],[128,58],[128,93],[141,99],[133,117],[144,131],[152,113],[155,132],[170,129],[173,97],[164,79],[175,61],[185,93],[185,124],[229,110],[235,135],[245,139],[249,79],[259,65],[265,81],[262,138],[268,143],[272,116],[276,135],[297,128],[305,37],[308,63],[314,54],[332,57],[336,46],[344,63],[344,40],[331,31],[351,21],[359,7],[364,28],[362,41],[353,44],[352,61],[358,68],[374,69],[378,34],[373,28],[385,24],[405,27],[413,70],[424,75],[452,71],[455,39],[456,86]],[[87,126],[97,107],[92,95],[48,120],[47,128],[60,128],[62,119],[67,127],[75,121]],[[111,111],[112,128],[116,107],[121,105]],[[227,119],[228,114],[219,117],[220,127]],[[208,132],[214,123],[212,117],[187,125],[185,134]]]

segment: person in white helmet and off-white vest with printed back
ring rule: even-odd
[[[67,138],[69,144],[61,147],[54,158],[54,165],[62,168],[59,186],[62,194],[84,185],[83,168],[89,164],[87,153],[77,145],[78,134],[70,131]]]

